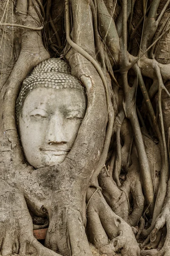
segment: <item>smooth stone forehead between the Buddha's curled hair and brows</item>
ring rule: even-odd
[[[32,108],[62,108],[63,106],[77,105],[85,108],[86,97],[82,90],[77,89],[52,89],[39,87],[32,90],[23,102],[23,111]]]

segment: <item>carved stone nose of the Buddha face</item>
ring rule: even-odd
[[[67,143],[62,118],[57,115],[51,116],[49,120],[46,132],[46,143]]]

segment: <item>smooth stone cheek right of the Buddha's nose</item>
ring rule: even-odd
[[[68,143],[74,143],[74,140],[77,137],[79,127],[81,125],[80,119],[68,120],[65,121],[65,133],[68,138]]]

